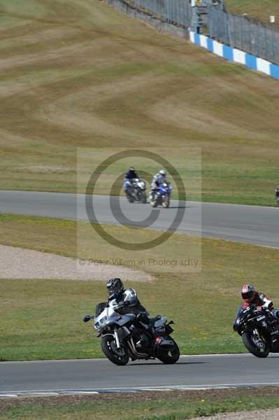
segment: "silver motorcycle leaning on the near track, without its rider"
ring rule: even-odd
[[[155,359],[163,363],[176,363],[180,356],[178,345],[171,338],[173,332],[171,324],[165,316],[156,316],[151,322],[157,335],[164,340],[157,344],[144,323],[141,322],[141,314],[120,315],[117,309],[123,305],[115,302],[99,303],[96,305],[95,316],[86,315],[84,322],[94,319],[94,328],[98,331],[97,337],[101,337],[101,349],[108,360],[115,365],[126,365],[131,360]],[[138,343],[141,342],[141,345]]]

